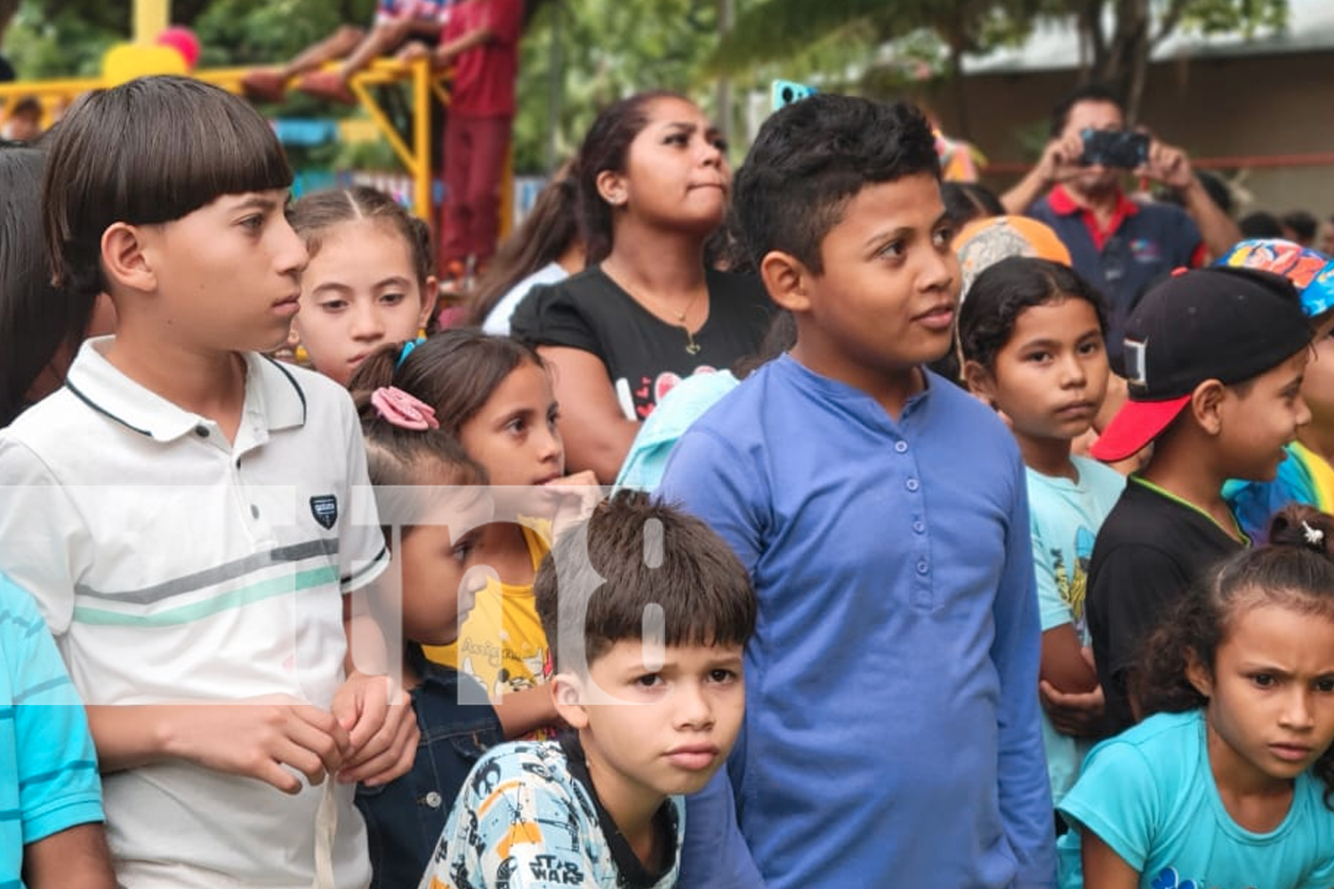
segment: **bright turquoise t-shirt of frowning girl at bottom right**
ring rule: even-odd
[[[1218,796],[1203,710],[1189,710],[1158,713],[1098,744],[1061,814],[1138,870],[1141,889],[1329,889],[1334,812],[1323,793],[1323,782],[1303,772],[1278,828],[1243,829]],[[1057,848],[1062,888],[1078,889],[1079,830]]]

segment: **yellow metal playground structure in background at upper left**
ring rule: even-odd
[[[35,96],[49,117],[89,89],[104,89],[144,75],[189,75],[233,93],[241,92],[241,79],[253,68],[213,68],[187,71],[184,57],[169,47],[155,44],[171,19],[169,0],[135,0],[135,41],[113,47],[103,57],[100,77],[65,80],[25,80],[0,84],[0,103],[21,96]],[[378,100],[374,88],[406,83],[411,92],[412,127],[404,139]],[[378,59],[352,76],[350,84],[375,128],[392,147],[394,153],[412,179],[412,211],[422,219],[432,217],[431,201],[431,103],[450,104],[448,89],[439,72],[432,72],[427,59],[400,63]],[[508,191],[510,176],[503,189]],[[508,201],[502,200],[502,232],[508,229]]]

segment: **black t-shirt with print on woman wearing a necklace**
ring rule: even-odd
[[[755,353],[774,304],[759,279],[708,271],[708,320],[686,351],[686,329],[663,321],[592,267],[564,281],[534,288],[515,309],[511,333],[532,345],[560,345],[596,355],[607,367],[626,417],[643,420],[683,377],[727,371]]]

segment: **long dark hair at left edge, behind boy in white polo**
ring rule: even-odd
[[[72,295],[51,284],[41,231],[41,168],[36,148],[0,141],[0,427],[28,405],[28,392],[60,347],[83,340],[96,293]]]

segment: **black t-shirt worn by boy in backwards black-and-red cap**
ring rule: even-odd
[[[1126,673],[1162,616],[1191,584],[1245,544],[1189,504],[1131,477],[1098,530],[1089,562],[1085,613],[1107,725],[1134,724]]]

